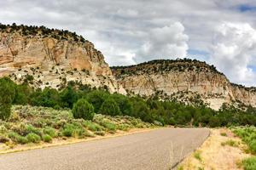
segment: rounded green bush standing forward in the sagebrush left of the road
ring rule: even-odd
[[[76,119],[83,118],[84,120],[92,120],[95,115],[93,106],[85,99],[79,99],[79,101],[73,105],[72,112],[73,117]]]

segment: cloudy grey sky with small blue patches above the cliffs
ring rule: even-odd
[[[256,0],[0,0],[0,23],[75,31],[109,65],[207,61],[256,86]]]

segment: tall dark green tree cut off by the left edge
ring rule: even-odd
[[[6,120],[10,116],[10,109],[15,98],[15,83],[8,77],[0,79],[0,119]]]

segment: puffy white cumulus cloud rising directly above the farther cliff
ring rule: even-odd
[[[136,54],[137,62],[150,59],[176,59],[187,56],[189,36],[184,26],[175,22],[169,26],[153,28],[148,31],[147,40]]]

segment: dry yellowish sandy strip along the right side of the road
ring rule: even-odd
[[[222,135],[221,135],[222,134]],[[226,134],[226,136],[224,136]],[[234,140],[235,146],[224,144],[228,140]],[[212,129],[210,137],[187,157],[179,166],[183,170],[239,170],[241,160],[250,156],[245,153],[247,146],[241,139],[234,136],[230,129]]]

